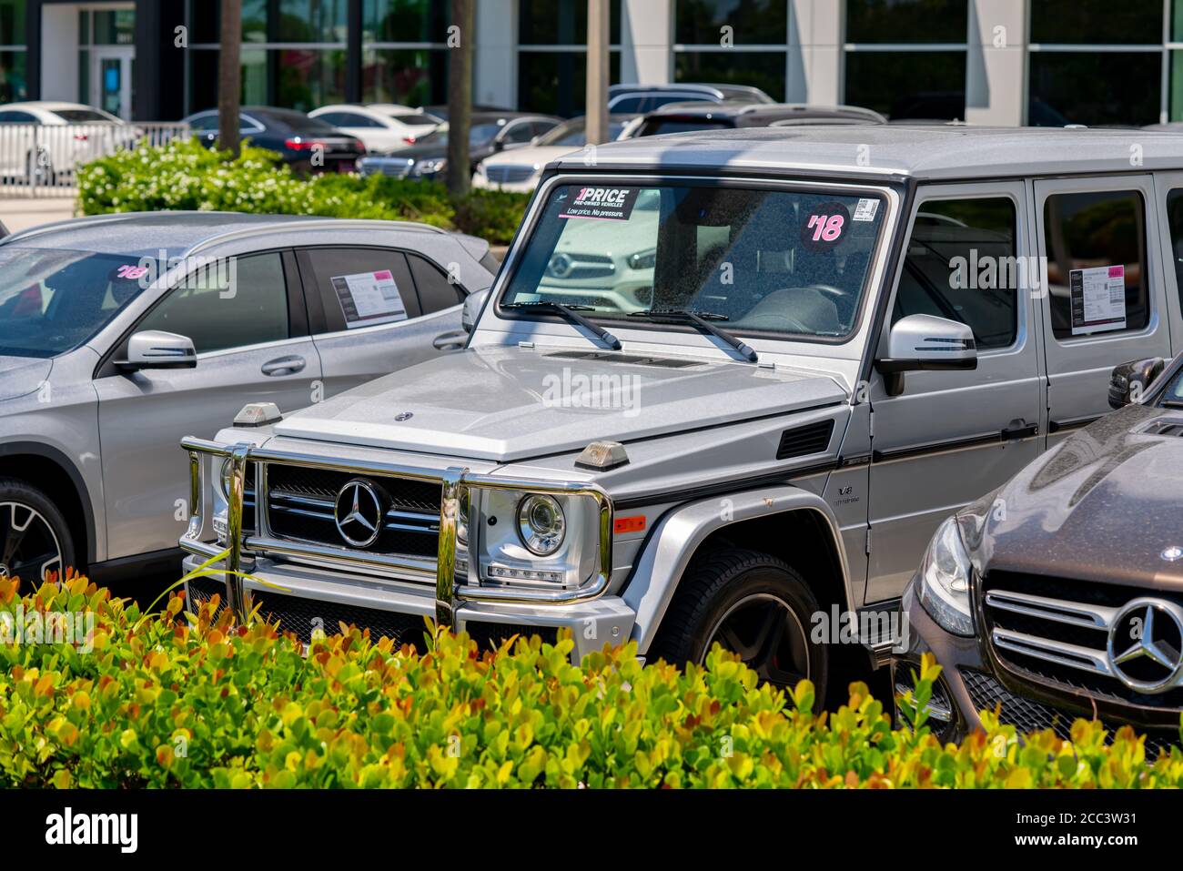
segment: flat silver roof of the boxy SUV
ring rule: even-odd
[[[1143,147],[1139,172],[1183,169],[1178,134],[1143,131],[1138,142]],[[716,129],[610,142],[596,148],[596,163],[618,170],[710,173],[723,167],[917,180],[1118,173],[1130,168],[1130,135],[1123,130],[888,124]],[[578,154],[551,166],[587,169]]]

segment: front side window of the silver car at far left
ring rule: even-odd
[[[199,354],[289,338],[283,257],[251,254],[195,273],[136,329],[188,336]]]

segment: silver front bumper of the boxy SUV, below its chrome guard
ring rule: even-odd
[[[186,574],[203,562],[185,560]],[[371,576],[328,572],[310,566],[259,559],[243,586],[261,617],[278,620],[280,630],[295,632],[304,644],[313,630],[328,635],[341,624],[368,628],[371,638],[387,635],[399,644],[422,644],[425,618],[435,618],[434,592],[416,583],[390,583]],[[186,601],[194,605],[216,592],[226,601],[226,585],[215,578],[186,583]],[[570,605],[463,602],[454,611],[453,627],[467,632],[483,647],[496,646],[512,634],[538,634],[552,641],[560,628],[571,631],[574,662],[628,640],[636,614],[620,596],[603,595]]]

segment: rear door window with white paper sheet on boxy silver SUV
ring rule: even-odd
[[[1056,338],[1140,330],[1150,323],[1145,213],[1137,191],[1052,194],[1043,202]]]

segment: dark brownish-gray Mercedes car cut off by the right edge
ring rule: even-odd
[[[907,651],[893,678],[910,689],[920,654],[936,656],[930,716],[943,738],[997,708],[1020,731],[1067,737],[1074,718],[1097,716],[1145,733],[1150,753],[1178,742],[1183,357],[1163,369],[1118,367],[1120,411],[933,536],[904,594]]]

